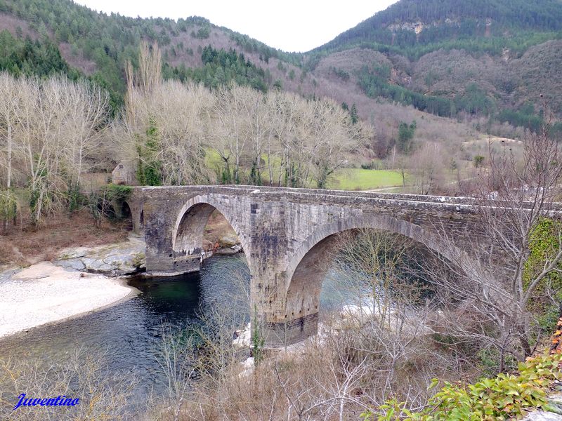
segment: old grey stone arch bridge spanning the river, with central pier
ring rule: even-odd
[[[436,225],[474,239],[470,199],[251,186],[136,187],[133,227],[144,225],[149,274],[200,269],[202,237],[216,209],[237,233],[251,273],[251,301],[263,315],[266,346],[316,333],[325,268],[334,234],[375,228],[403,234],[445,257]],[[469,234],[466,236],[465,234]]]

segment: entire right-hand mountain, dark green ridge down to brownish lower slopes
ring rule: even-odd
[[[561,18],[559,0],[402,0],[316,48],[306,67],[372,98],[536,131],[544,100],[562,112]],[[379,54],[365,60],[365,51]]]

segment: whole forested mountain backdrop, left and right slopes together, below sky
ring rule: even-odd
[[[138,68],[145,40],[162,51],[164,80],[329,97],[353,110],[376,136],[351,165],[388,158],[395,168],[396,153],[432,142],[455,167],[481,154],[466,142],[537,131],[543,102],[562,116],[561,9],[559,0],[401,0],[325,46],[292,54],[205,18],[128,18],[69,0],[0,0],[0,71],[84,79],[109,93],[118,116],[126,62]],[[405,140],[400,127],[413,123]],[[553,134],[560,132],[554,121]]]

